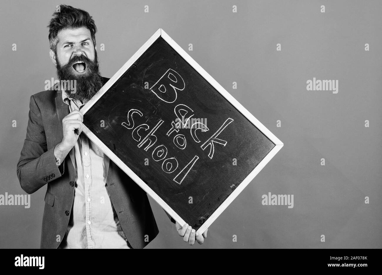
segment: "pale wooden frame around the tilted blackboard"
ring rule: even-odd
[[[269,138],[274,144],[274,148],[262,159],[262,161],[257,164],[257,166],[251,171],[248,176],[239,184],[239,186],[233,190],[233,192],[224,200],[224,202],[215,210],[212,215],[207,218],[203,225],[197,230],[198,233],[203,233],[215,220],[216,218],[228,207],[228,205],[240,194],[241,191],[251,182],[254,177],[261,171],[262,168],[276,155],[276,153],[284,145],[273,133],[271,133],[259,120],[256,119],[246,108],[244,108],[230,93],[228,93],[217,81],[212,78],[191,56],[189,56],[185,50],[183,50],[178,44],[176,44],[173,39],[168,36],[163,29],[158,29],[146,43],[143,44],[141,48],[123,65],[115,75],[110,78],[110,80],[105,83],[105,85],[98,91],[97,94],[90,99],[85,106],[81,109],[81,112],[85,114],[97,101],[102,97],[104,93],[128,70],[131,65],[138,60],[138,58],[151,46],[152,43],[158,38],[162,37],[176,52],[178,52],[183,59],[185,59],[189,65],[191,65],[202,77],[204,77],[217,91],[219,91],[225,99],[227,99],[235,108],[243,114],[253,125],[257,127],[267,138]],[[123,163],[104,143],[102,143],[99,138],[97,138],[94,133],[92,133],[86,126],[84,126],[83,132],[87,137],[92,140],[97,146],[101,148],[102,151],[118,165],[126,174],[128,174],[131,179],[133,179],[147,194],[149,194],[152,199],[154,199],[159,205],[169,213],[181,226],[185,225],[185,221],[174,211],[172,208],[163,201],[147,184],[142,181],[125,163]]]

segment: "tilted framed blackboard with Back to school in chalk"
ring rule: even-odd
[[[84,133],[199,232],[283,146],[162,29],[82,112]]]

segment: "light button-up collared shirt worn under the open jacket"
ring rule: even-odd
[[[70,112],[84,105],[68,98],[65,91],[62,100]],[[84,133],[79,135],[70,157],[76,168],[74,202],[58,248],[132,248],[108,195],[105,167],[110,159]]]

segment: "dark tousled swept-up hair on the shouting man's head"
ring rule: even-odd
[[[49,21],[49,48],[57,54],[58,32],[62,29],[76,29],[85,27],[89,29],[93,45],[95,47],[95,26],[92,16],[87,11],[73,8],[68,5],[60,5],[53,13],[53,18]]]

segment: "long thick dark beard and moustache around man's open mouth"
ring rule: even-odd
[[[78,61],[85,63],[86,73],[83,75],[78,75],[74,72],[73,65]],[[71,93],[70,87],[66,88],[65,92],[68,97],[79,100],[82,103],[89,101],[104,85],[102,76],[99,74],[97,52],[95,52],[94,61],[84,55],[75,55],[68,63],[61,66],[57,59],[56,68],[59,80],[76,80],[76,92]]]

